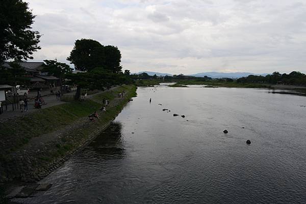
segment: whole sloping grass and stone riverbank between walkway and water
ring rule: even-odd
[[[124,92],[122,98],[118,93]],[[122,85],[84,101],[69,102],[2,121],[0,124],[0,181],[36,182],[82,149],[112,122],[136,96],[135,85]],[[99,110],[103,99],[106,111]],[[88,115],[97,111],[99,119]]]

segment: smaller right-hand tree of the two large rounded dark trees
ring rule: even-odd
[[[122,67],[121,52],[118,47],[108,45],[105,46],[105,66],[106,69],[111,70],[113,73],[120,73]]]

